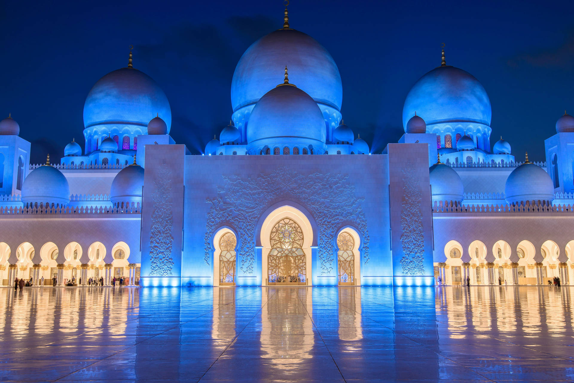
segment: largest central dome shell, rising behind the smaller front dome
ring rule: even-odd
[[[294,29],[279,29],[255,41],[243,53],[231,82],[231,106],[253,105],[277,85],[277,72],[287,65],[290,81],[317,103],[341,109],[339,69],[319,42]]]

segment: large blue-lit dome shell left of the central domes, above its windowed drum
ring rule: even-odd
[[[169,128],[172,112],[164,91],[150,76],[134,68],[121,68],[96,82],[84,103],[84,126],[128,124],[148,126],[161,114]]]

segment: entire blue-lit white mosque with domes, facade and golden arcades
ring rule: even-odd
[[[444,50],[428,68],[380,154],[343,122],[339,69],[287,10],[243,53],[231,121],[203,154],[170,137],[168,98],[131,51],[87,93],[83,140],[59,163],[30,164],[0,111],[3,285],[569,284],[574,117],[531,161],[492,136],[474,76]]]

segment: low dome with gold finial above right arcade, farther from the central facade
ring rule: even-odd
[[[541,167],[526,161],[514,169],[506,179],[506,202],[547,201],[554,199],[554,184],[548,173]]]

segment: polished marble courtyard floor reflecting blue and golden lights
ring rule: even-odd
[[[570,287],[0,288],[0,381],[574,381]]]

